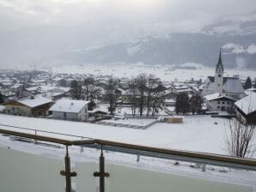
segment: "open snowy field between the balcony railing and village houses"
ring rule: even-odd
[[[227,154],[225,135],[229,122],[222,118],[208,116],[184,117],[184,123],[156,123],[148,129],[116,128],[94,123],[70,122],[64,120],[17,117],[0,114],[2,124],[14,125],[29,129],[39,129],[57,133],[79,135],[109,141],[120,141],[151,147],[175,148],[204,153]],[[217,123],[217,124],[215,124]],[[11,129],[0,126],[1,129]],[[21,131],[21,129],[14,129]],[[23,130],[24,131],[24,130]],[[33,133],[34,131],[24,131]],[[52,135],[38,132],[38,135],[49,135],[70,140],[77,138]],[[78,138],[80,139],[80,138]]]

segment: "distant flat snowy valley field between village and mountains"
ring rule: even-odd
[[[184,64],[185,66],[188,63]],[[189,63],[189,66],[195,66],[196,69],[174,69],[173,65],[145,65],[138,64],[72,64],[52,67],[54,73],[66,74],[91,74],[91,75],[113,75],[119,78],[137,76],[141,73],[154,74],[160,77],[162,81],[186,81],[194,78],[194,80],[205,80],[207,76],[214,75],[214,65],[212,68],[202,67],[197,63]],[[240,75],[241,79],[250,76],[252,79],[256,77],[255,70],[247,69],[225,69],[225,76]]]

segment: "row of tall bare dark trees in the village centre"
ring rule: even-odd
[[[154,116],[161,107],[164,95],[161,88],[162,81],[155,75],[140,74],[132,78],[126,85],[120,83],[118,78],[109,77],[107,81],[96,81],[93,77],[83,81],[72,81],[70,96],[73,99],[85,99],[91,101],[89,110],[95,106],[95,99],[107,102],[108,111],[113,114],[117,105],[123,102],[119,88],[125,90],[125,102],[131,105],[132,115]]]

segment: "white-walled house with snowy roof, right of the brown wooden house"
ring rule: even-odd
[[[88,103],[86,100],[59,99],[49,109],[55,119],[83,121],[88,119]]]

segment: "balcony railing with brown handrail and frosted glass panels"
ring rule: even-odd
[[[250,191],[251,188],[232,183],[213,182],[211,180],[194,177],[183,177],[168,174],[168,172],[149,171],[140,168],[115,165],[105,159],[106,152],[136,155],[137,161],[141,157],[153,159],[167,159],[179,162],[192,162],[202,165],[228,167],[246,171],[256,171],[255,159],[239,159],[211,153],[195,153],[188,151],[145,147],[128,143],[104,141],[84,138],[79,135],[62,135],[77,137],[79,140],[67,140],[40,135],[44,132],[36,129],[21,129],[12,127],[0,129],[2,135],[12,135],[27,138],[36,144],[39,141],[51,142],[65,147],[64,166],[61,161],[48,159],[38,155],[17,152],[7,148],[0,148],[0,191]],[[24,133],[24,131],[31,133]],[[59,136],[58,136],[59,137]],[[76,171],[72,168],[70,147],[96,148],[100,150],[98,162],[76,163]],[[72,156],[72,155],[71,155]],[[41,168],[40,168],[41,167]],[[39,176],[40,177],[37,177]],[[22,177],[23,176],[23,177]],[[253,174],[253,176],[256,176]],[[63,180],[63,177],[65,178]],[[73,178],[73,179],[72,179]],[[36,179],[36,181],[34,181]],[[24,180],[24,181],[23,181]],[[72,181],[76,180],[76,183]],[[255,178],[256,180],[256,178]],[[37,186],[37,187],[36,187]]]

